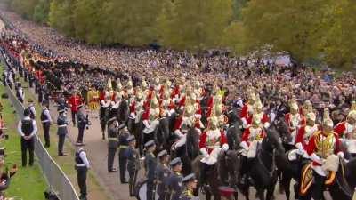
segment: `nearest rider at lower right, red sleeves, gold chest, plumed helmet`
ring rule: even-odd
[[[331,155],[344,157],[340,151],[340,140],[336,132],[333,131],[334,123],[330,119],[328,109],[324,110],[322,131],[315,132],[308,143],[307,152],[312,160],[312,170],[314,184],[312,187],[312,198],[314,200],[323,199],[323,187],[327,172],[322,165],[325,159]]]

